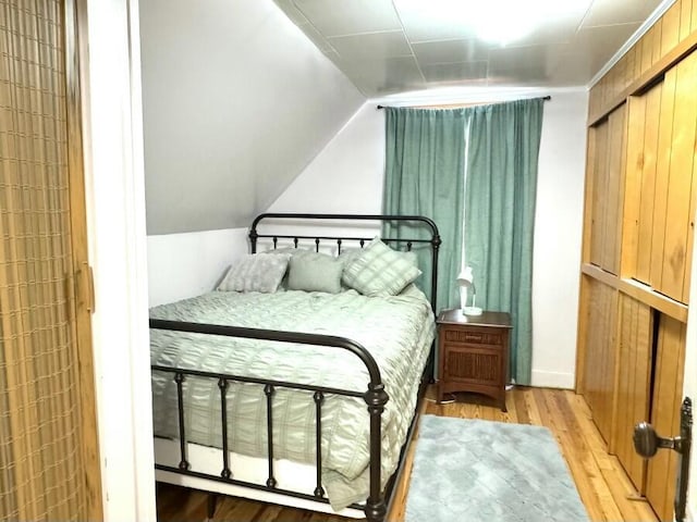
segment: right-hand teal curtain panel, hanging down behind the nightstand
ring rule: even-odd
[[[510,377],[529,385],[533,231],[542,100],[475,107],[465,182],[465,263],[477,306],[513,320]]]

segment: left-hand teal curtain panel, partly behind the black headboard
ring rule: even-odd
[[[386,172],[382,210],[387,214],[421,214],[436,222],[442,238],[437,310],[458,306],[455,277],[462,261],[465,128],[469,112],[386,108]],[[387,224],[383,236],[414,234]],[[419,286],[430,295],[430,258],[418,249],[424,276]],[[427,276],[428,275],[428,276]]]

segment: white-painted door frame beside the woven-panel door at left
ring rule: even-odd
[[[77,13],[105,520],[156,520],[138,0]]]

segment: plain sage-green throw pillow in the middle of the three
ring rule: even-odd
[[[293,254],[289,263],[288,289],[305,291],[341,291],[343,262],[326,253]]]

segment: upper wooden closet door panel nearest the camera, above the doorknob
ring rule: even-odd
[[[697,177],[697,53],[629,103],[623,275],[687,303]]]

